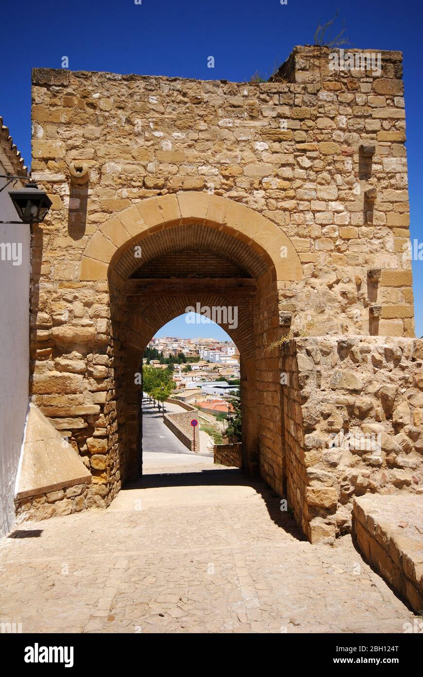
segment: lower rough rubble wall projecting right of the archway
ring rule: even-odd
[[[351,529],[353,496],[423,494],[421,339],[297,339],[280,364],[287,493],[310,540]]]

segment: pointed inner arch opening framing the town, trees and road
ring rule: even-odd
[[[237,442],[236,447],[228,447],[234,449],[234,461],[239,460],[239,350],[208,317],[207,307],[202,313],[187,310],[152,337],[140,366],[139,465],[143,473],[157,466],[176,468],[182,462],[195,465],[196,459],[198,464],[212,464],[214,444],[224,442]],[[230,324],[236,322],[236,313],[230,320]],[[199,423],[195,432],[193,419]],[[231,465],[238,466],[237,462]]]

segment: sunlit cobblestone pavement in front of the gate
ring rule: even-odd
[[[412,613],[349,536],[312,546],[264,484],[206,467],[149,474],[107,510],[18,525],[0,542],[0,622],[22,632],[403,632]]]

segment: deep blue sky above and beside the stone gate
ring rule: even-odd
[[[1,0],[0,115],[30,164],[30,69],[247,81],[271,72],[294,45],[313,43],[340,7],[353,47],[404,55],[411,234],[422,232],[422,18],[418,0]],[[337,22],[339,28],[341,21]],[[214,56],[215,68],[207,68]],[[414,261],[416,335],[423,334],[423,261]],[[217,330],[215,330],[217,331]]]

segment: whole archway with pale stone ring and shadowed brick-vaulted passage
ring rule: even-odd
[[[141,259],[134,255],[137,249],[141,249]],[[185,256],[179,267],[178,259],[172,259],[175,255]],[[163,324],[199,302],[209,307],[236,305],[240,311],[237,328],[222,326],[241,353],[245,468],[259,461],[258,408],[268,407],[269,393],[264,392],[262,401],[257,397],[257,366],[262,374],[266,369],[272,373],[266,378],[274,383],[271,425],[278,432],[268,431],[266,436],[263,426],[268,454],[262,454],[261,462],[267,479],[273,479],[274,488],[280,491],[278,360],[269,369],[260,351],[264,332],[269,341],[279,335],[278,281],[301,278],[301,263],[289,238],[268,219],[226,198],[204,193],[161,196],[114,215],[91,238],[82,257],[80,280],[105,277],[116,391],[107,405],[112,427],[116,418],[108,466],[111,475],[119,478],[114,486],[133,479],[137,472],[139,412],[134,374],[145,347]]]

